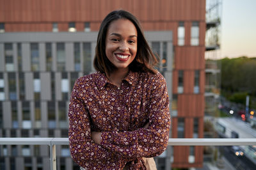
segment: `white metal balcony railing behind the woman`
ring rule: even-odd
[[[68,145],[68,138],[62,137],[0,137],[0,145],[49,145],[51,170],[56,170],[56,145]],[[256,145],[255,138],[170,138],[170,146],[248,146]]]

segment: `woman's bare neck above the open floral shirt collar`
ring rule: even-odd
[[[121,87],[122,84],[122,80],[124,79],[124,77],[126,77],[126,75],[129,73],[129,70],[124,69],[124,70],[116,70],[114,72],[112,72],[110,74],[110,76],[107,75],[109,81],[111,83],[113,83],[114,85],[116,85],[118,88]]]

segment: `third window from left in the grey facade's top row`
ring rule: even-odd
[[[31,43],[30,44],[30,51],[31,51],[31,70],[32,71],[39,71],[38,43]]]

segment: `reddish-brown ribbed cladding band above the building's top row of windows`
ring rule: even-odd
[[[127,10],[141,21],[205,20],[205,0],[0,0],[0,22],[101,21]]]

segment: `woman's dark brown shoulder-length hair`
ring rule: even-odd
[[[116,66],[113,65],[106,56],[106,35],[111,22],[118,19],[130,20],[137,29],[137,53],[136,57],[129,65],[129,70],[132,72],[150,72],[155,74],[157,71],[154,66],[157,65],[158,61],[150,49],[147,40],[145,39],[141,24],[139,20],[134,17],[134,15],[124,10],[116,10],[109,13],[100,25],[95,49],[95,57],[93,60],[95,70],[106,73],[107,75],[110,75],[110,73],[116,70]]]

